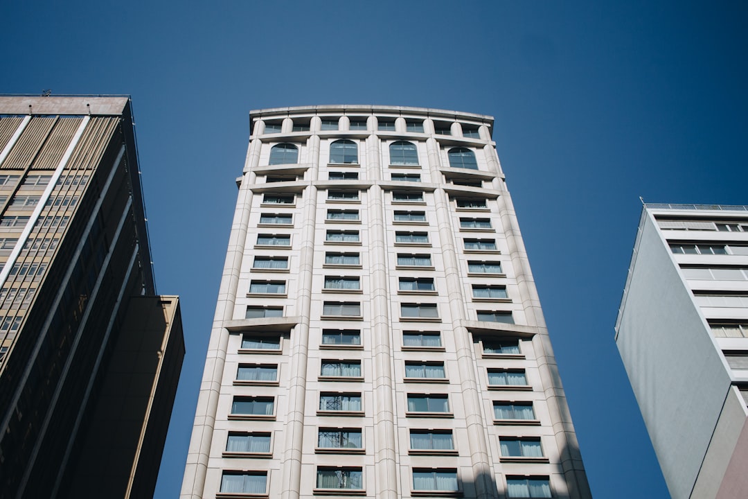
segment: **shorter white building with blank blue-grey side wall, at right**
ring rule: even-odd
[[[644,205],[616,343],[672,498],[748,497],[748,206]]]

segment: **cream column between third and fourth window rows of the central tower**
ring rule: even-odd
[[[441,175],[439,173],[441,161],[439,145],[435,138],[426,140],[426,150],[429,154],[429,170],[432,178],[438,178]],[[493,466],[488,457],[487,432],[483,424],[481,399],[475,374],[476,359],[473,355],[473,341],[470,339],[468,329],[463,325],[468,317],[465,313],[465,296],[462,294],[462,279],[454,243],[455,230],[452,226],[449,199],[444,189],[439,188],[434,191],[434,203],[441,256],[444,260],[444,276],[447,278],[462,404],[465,407],[465,423],[468,427],[468,447],[473,468],[472,479],[475,482],[476,498],[494,499],[497,497],[497,488],[493,477]]]

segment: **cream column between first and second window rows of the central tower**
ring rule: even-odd
[[[319,117],[314,117],[319,126]],[[312,164],[310,180],[316,180],[319,171],[319,135],[307,141],[307,160]],[[301,248],[298,263],[297,315],[301,322],[291,334],[289,363],[291,379],[288,387],[288,410],[283,452],[283,483],[281,498],[298,499],[301,493],[301,456],[304,441],[304,408],[307,397],[307,364],[309,358],[309,327],[312,313],[312,277],[314,275],[314,236],[316,233],[317,188],[313,182],[304,189],[301,206],[304,219],[301,221]]]

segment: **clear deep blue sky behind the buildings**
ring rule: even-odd
[[[328,103],[496,118],[592,492],[668,497],[613,325],[640,196],[748,203],[748,3],[4,1],[0,19],[1,93],[132,95],[187,345],[157,498],[181,486],[248,111]]]

